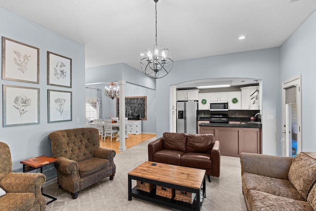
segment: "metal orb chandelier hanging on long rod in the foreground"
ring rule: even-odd
[[[146,76],[153,79],[165,77],[172,68],[173,57],[171,52],[164,46],[157,45],[157,2],[156,3],[156,44],[141,54],[140,65]]]

